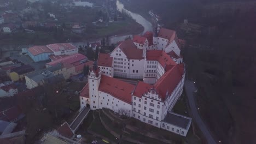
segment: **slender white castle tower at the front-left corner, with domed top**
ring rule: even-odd
[[[102,74],[101,69],[98,68],[96,63],[94,63],[94,67],[90,69],[89,75],[88,75],[91,110],[96,110],[99,107],[98,87],[100,86],[100,82],[101,82],[101,74]]]

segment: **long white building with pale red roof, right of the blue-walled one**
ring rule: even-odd
[[[55,56],[59,55],[73,55],[78,53],[78,48],[70,43],[57,43],[46,45],[51,51],[54,52]]]

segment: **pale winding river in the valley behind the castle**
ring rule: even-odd
[[[121,3],[119,0],[117,1],[117,10],[120,11],[121,13],[125,13],[125,14],[129,15],[133,20],[135,20],[137,23],[139,23],[140,25],[142,25],[144,27],[144,31],[142,33],[138,33],[138,34],[144,34],[147,31],[153,31],[153,25],[151,22],[146,20],[141,15],[132,13],[131,11],[125,9],[124,4]],[[109,44],[116,44],[119,41],[125,40],[126,38],[132,38],[132,35],[121,35],[121,36],[115,35],[115,36],[109,37]]]

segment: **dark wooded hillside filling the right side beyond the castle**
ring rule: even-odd
[[[176,29],[178,36],[187,40],[183,50],[187,77],[196,81],[200,113],[216,140],[256,143],[256,130],[252,129],[256,127],[256,10],[250,9],[251,4],[240,1],[224,7],[219,1],[200,0],[122,2],[144,17],[153,10],[164,27]],[[205,4],[218,5],[222,10],[205,9]],[[184,19],[201,26],[201,33],[182,31]]]

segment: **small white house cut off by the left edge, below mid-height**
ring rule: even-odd
[[[13,97],[14,94],[18,94],[18,89],[14,84],[0,87],[0,98]]]

